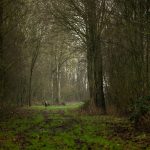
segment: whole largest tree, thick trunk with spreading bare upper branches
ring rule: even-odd
[[[53,2],[56,20],[85,43],[91,103],[106,112],[103,88],[102,32],[106,27],[111,2],[105,0],[64,0]],[[64,9],[65,8],[65,9]]]

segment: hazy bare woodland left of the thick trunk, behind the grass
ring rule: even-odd
[[[68,30],[55,25],[44,1],[2,0],[1,108],[86,99],[85,52],[76,41]]]

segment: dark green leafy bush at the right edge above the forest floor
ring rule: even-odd
[[[140,97],[131,106],[130,120],[138,124],[140,119],[150,112],[150,96]]]

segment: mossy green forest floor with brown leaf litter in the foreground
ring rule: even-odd
[[[150,135],[135,131],[127,120],[70,108],[17,110],[0,121],[0,150],[150,150]]]

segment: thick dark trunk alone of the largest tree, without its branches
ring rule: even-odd
[[[99,20],[96,14],[96,0],[87,2],[87,63],[90,99],[92,103],[106,113],[103,91],[103,64],[100,41]]]

